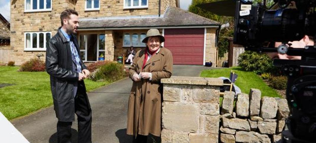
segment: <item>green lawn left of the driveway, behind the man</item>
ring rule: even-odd
[[[0,111],[9,120],[52,105],[49,75],[46,72],[17,72],[19,67],[0,66],[0,83],[15,84],[0,88]],[[85,80],[87,91],[109,82]]]

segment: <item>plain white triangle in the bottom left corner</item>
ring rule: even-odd
[[[0,112],[0,142],[30,143]]]

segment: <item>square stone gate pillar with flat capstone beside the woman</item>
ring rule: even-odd
[[[162,79],[162,143],[218,142],[220,79]]]

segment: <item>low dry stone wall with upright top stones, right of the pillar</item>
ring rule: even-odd
[[[260,90],[251,89],[249,95],[237,95],[234,112],[230,113],[227,112],[227,107],[234,106],[231,102],[234,94],[228,91],[224,93],[220,142],[274,143],[281,140],[285,119],[289,116],[286,99],[261,98]]]

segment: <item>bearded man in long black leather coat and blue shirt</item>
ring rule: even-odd
[[[83,79],[90,72],[81,60],[74,34],[79,26],[78,13],[64,10],[61,27],[50,39],[46,50],[46,71],[50,74],[51,90],[57,123],[58,143],[71,142],[71,125],[78,118],[78,142],[91,142],[92,111]]]

